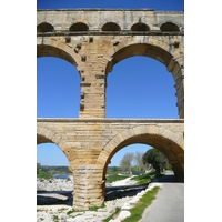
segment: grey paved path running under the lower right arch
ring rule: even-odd
[[[184,222],[184,183],[174,183],[173,180],[172,174],[159,180],[163,186],[140,222]]]

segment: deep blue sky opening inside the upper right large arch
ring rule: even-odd
[[[179,118],[173,77],[159,61],[127,58],[107,80],[105,118]]]

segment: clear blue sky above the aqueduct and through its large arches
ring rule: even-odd
[[[38,9],[67,8],[152,8],[184,10],[181,0],[158,1],[37,1]],[[178,119],[175,88],[172,74],[151,58],[132,57],[114,65],[108,75],[107,118],[173,118]],[[80,77],[72,64],[58,58],[37,59],[37,117],[78,118]],[[145,152],[150,147],[132,144],[120,150],[110,165],[119,165],[127,152]],[[52,143],[37,145],[37,161],[42,165],[69,165],[62,151]]]

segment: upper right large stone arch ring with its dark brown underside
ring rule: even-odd
[[[131,38],[128,41],[118,42],[115,47],[110,49],[103,57],[105,67],[105,75],[112,71],[113,67],[123,59],[133,56],[144,56],[153,58],[167,67],[167,70],[172,73],[176,98],[179,117],[184,118],[184,57],[179,51],[171,52],[171,47],[157,39],[149,38]],[[105,61],[104,61],[105,60]],[[107,84],[107,82],[105,82]]]

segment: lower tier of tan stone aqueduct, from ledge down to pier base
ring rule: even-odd
[[[105,171],[123,147],[143,143],[159,149],[184,179],[184,121],[153,119],[38,119],[37,144],[52,142],[63,151],[73,174],[73,208],[104,201]]]

